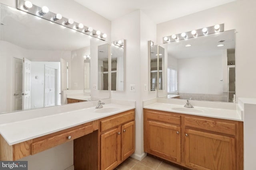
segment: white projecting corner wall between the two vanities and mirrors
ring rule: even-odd
[[[133,157],[137,159],[144,156],[142,100],[156,97],[155,92],[148,91],[148,41],[156,41],[155,32],[156,24],[140,10],[112,21],[112,41],[125,39],[126,46],[124,92],[112,91],[111,98],[136,101],[136,150]],[[130,84],[135,84],[135,93],[130,92]]]

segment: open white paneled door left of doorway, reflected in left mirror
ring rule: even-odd
[[[22,109],[31,108],[31,61],[23,58]]]

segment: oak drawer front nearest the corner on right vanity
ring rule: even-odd
[[[146,109],[146,118],[150,120],[171,123],[174,125],[180,125],[180,115],[174,115],[170,112]]]

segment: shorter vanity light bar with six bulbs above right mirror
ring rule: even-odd
[[[182,39],[199,37],[202,35],[208,35],[208,34],[218,33],[218,32],[222,32],[222,31],[224,31],[224,23],[217,24],[217,25],[210,26],[210,27],[204,27],[202,29],[196,29],[196,30],[189,31],[189,32],[169,35],[169,36],[163,37],[163,43],[170,43],[173,41],[179,41]]]

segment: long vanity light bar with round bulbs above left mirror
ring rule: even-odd
[[[44,8],[47,8],[44,6]],[[75,22],[72,19],[64,18],[60,14],[55,14],[53,12],[50,12],[49,9],[48,11],[45,11],[45,9],[42,9],[39,6],[36,6],[32,4],[30,1],[27,0],[17,0],[17,9],[27,12],[29,14],[32,14],[34,16],[38,16],[40,18],[44,18],[48,21],[52,21],[54,23],[58,23],[64,27],[68,27],[70,29],[74,29],[78,32],[84,33],[86,35],[90,35],[92,37],[101,39],[101,40],[106,40],[107,35],[105,33],[101,33],[98,30],[92,29],[92,27],[82,27],[82,23]],[[78,26],[80,25],[80,27]],[[96,34],[96,32],[98,34]],[[100,33],[100,34],[99,34]]]

